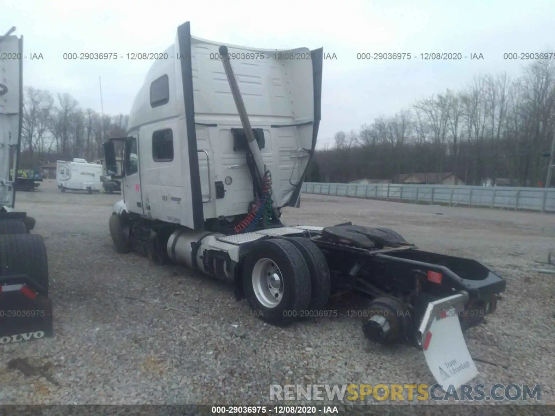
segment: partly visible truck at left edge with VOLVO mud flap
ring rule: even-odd
[[[0,346],[52,336],[48,260],[35,220],[14,210],[23,115],[23,37],[0,36]]]

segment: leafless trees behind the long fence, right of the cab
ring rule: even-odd
[[[358,131],[338,131],[334,145],[316,151],[306,180],[454,172],[467,185],[504,178],[543,186],[554,134],[555,62],[538,60],[514,79],[476,75],[458,92],[417,99]]]

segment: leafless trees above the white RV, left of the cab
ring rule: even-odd
[[[56,160],[103,156],[105,139],[122,137],[129,116],[99,114],[82,109],[70,94],[24,88],[21,135],[21,169],[37,169]]]

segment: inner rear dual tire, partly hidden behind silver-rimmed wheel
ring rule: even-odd
[[[315,243],[303,237],[289,237],[299,250],[309,267],[311,294],[309,311],[322,311],[330,298],[330,269],[327,267],[326,257]]]

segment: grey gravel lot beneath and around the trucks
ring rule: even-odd
[[[61,194],[50,180],[18,192],[16,207],[36,217],[33,233],[46,239],[56,336],[0,347],[0,404],[253,405],[269,403],[273,383],[434,383],[416,349],[365,340],[360,321],[345,314],[364,305],[360,298],[330,305],[335,318],[277,328],[235,302],[224,283],[117,255],[108,218],[119,199]],[[501,272],[507,291],[498,312],[467,342],[473,356],[508,368],[476,363],[473,383],[541,383],[541,402],[555,404],[555,277],[526,271],[555,248],[555,216],[304,195],[284,219],[387,226],[420,248]],[[13,358],[48,363],[59,385],[8,369]]]

